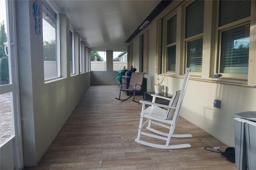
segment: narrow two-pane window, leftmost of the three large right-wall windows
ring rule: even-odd
[[[166,28],[166,68],[167,72],[174,72],[176,68],[176,29],[177,15],[167,21]]]

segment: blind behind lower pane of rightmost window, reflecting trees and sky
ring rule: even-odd
[[[248,74],[250,24],[222,32],[220,73]]]

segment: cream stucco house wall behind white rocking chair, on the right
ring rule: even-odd
[[[145,30],[149,30],[149,73],[145,75],[147,77],[147,91],[154,91],[153,83],[157,82],[157,75],[155,74],[156,19],[166,16],[175,6],[178,6],[180,2],[181,1],[173,1],[130,42],[133,43],[133,65],[138,68],[139,36],[143,34]],[[205,3],[207,8],[211,8],[211,1]],[[212,28],[212,26],[208,25],[211,23],[207,21],[206,23],[205,29]],[[209,68],[209,63],[214,59],[210,56],[216,54],[214,54],[215,50],[206,48],[212,48],[208,43],[213,41],[216,38],[215,36],[215,33],[204,35],[205,51],[202,78],[210,81],[209,75],[213,69],[212,67]],[[178,46],[179,45],[177,45],[177,47]],[[183,52],[178,51],[178,53],[180,53],[182,57]],[[176,69],[179,69],[179,67],[176,67]],[[160,75],[160,79],[162,76],[163,75]],[[163,83],[165,86],[164,91],[173,94],[175,91],[180,90],[183,82],[182,78],[164,76],[166,77]],[[212,134],[225,144],[234,146],[234,120],[232,115],[243,111],[256,111],[256,88],[210,81],[202,81],[202,79],[190,79],[188,81],[180,116]],[[213,107],[214,99],[221,100],[220,109]]]

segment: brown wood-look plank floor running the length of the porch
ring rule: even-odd
[[[90,86],[39,165],[25,169],[237,170],[220,153],[204,150],[218,146],[224,151],[228,146],[182,117],[175,132],[193,137],[172,138],[171,143],[190,143],[191,148],[164,150],[134,142],[142,104],[116,100],[118,91],[118,85]]]

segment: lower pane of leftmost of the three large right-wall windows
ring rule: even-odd
[[[167,47],[167,71],[174,72],[176,68],[176,45]]]

